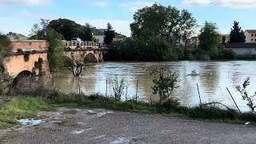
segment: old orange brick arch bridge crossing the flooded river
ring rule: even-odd
[[[103,55],[107,53],[107,49],[105,47],[99,47],[93,42],[85,43],[90,46],[84,44],[84,47],[79,46],[79,49],[71,48],[70,50],[65,51],[65,55],[69,58],[73,55],[74,58],[80,59],[83,62],[102,61]],[[38,62],[38,58],[42,58],[43,60],[42,72],[44,74],[50,74],[50,66],[47,59],[48,48],[50,46],[49,42],[41,40],[25,40],[13,41],[12,45],[14,54],[7,56],[3,59],[2,63],[0,63],[0,66],[7,74],[10,74],[13,78],[16,78],[18,75],[30,75],[33,71],[35,62]],[[18,49],[22,49],[24,53],[30,51],[31,54],[27,62],[24,59],[24,54],[18,54]],[[38,73],[38,70],[36,73]]]

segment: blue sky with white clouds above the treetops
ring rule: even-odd
[[[110,22],[118,33],[130,36],[134,12],[154,2],[189,10],[199,26],[214,22],[222,34],[230,32],[234,20],[243,30],[256,29],[256,0],[0,0],[0,32],[28,35],[40,18],[69,18],[97,28]]]

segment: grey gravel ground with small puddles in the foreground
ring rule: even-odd
[[[250,125],[106,110],[64,111],[70,109],[38,113],[46,121],[38,126],[0,130],[0,143],[256,143],[256,127]]]

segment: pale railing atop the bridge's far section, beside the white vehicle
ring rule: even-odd
[[[64,46],[69,47],[70,49],[106,49],[107,46],[98,42],[92,41],[63,41]]]

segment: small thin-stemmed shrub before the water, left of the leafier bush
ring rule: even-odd
[[[118,77],[114,78],[113,90],[114,90],[114,99],[116,101],[121,100],[124,89],[125,89],[125,79],[122,78],[120,81],[118,81]]]

